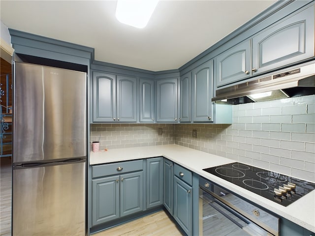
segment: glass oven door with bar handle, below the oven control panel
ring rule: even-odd
[[[268,236],[271,234],[199,188],[199,235]]]

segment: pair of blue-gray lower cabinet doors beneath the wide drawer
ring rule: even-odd
[[[92,180],[92,224],[143,210],[143,171]]]

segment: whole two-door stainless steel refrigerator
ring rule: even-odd
[[[12,235],[86,235],[86,73],[15,62],[13,104]]]

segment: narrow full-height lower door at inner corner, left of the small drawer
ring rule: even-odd
[[[173,215],[173,162],[164,158],[163,161],[163,205]]]

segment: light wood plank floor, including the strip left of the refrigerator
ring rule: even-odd
[[[11,159],[0,158],[0,236],[11,235]],[[182,236],[163,211],[144,216],[93,236]]]

